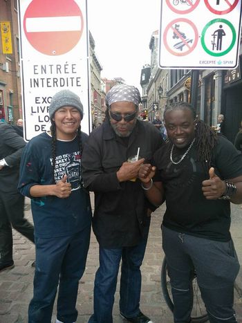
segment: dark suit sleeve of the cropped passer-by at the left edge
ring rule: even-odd
[[[3,156],[3,158],[6,160],[6,163],[9,167],[19,165],[21,154],[23,152],[24,146],[26,145],[26,142],[21,136],[16,133],[15,129],[12,129],[12,127],[8,127],[5,129],[5,131],[1,131],[1,136],[2,140],[8,147],[15,149],[14,153],[8,156]]]

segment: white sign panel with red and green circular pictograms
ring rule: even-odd
[[[160,68],[235,68],[241,0],[162,0]]]

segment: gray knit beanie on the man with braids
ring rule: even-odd
[[[83,105],[79,96],[70,90],[62,90],[53,96],[49,106],[50,119],[53,118],[55,111],[61,107],[75,107],[80,111],[83,118]]]

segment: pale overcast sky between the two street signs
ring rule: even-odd
[[[161,0],[88,0],[89,30],[101,77],[122,77],[140,88],[141,68],[150,64],[149,41],[159,29]]]

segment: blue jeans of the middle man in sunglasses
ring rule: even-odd
[[[138,246],[105,249],[100,247],[100,267],[95,275],[94,313],[89,323],[112,323],[114,294],[122,259],[120,312],[126,317],[140,313],[141,273],[147,237]]]

